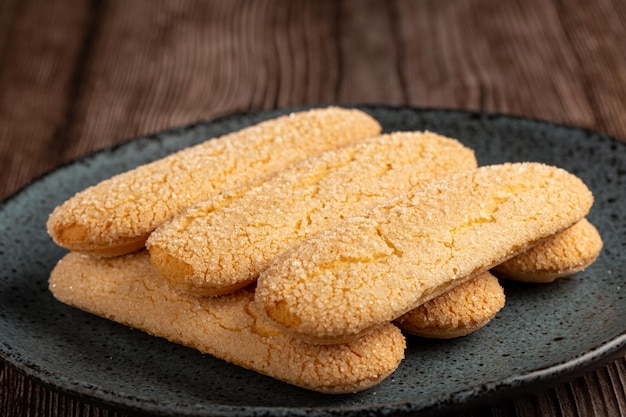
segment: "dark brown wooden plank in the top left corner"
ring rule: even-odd
[[[3,9],[10,24],[0,29],[0,198],[60,162],[87,6],[24,1]]]

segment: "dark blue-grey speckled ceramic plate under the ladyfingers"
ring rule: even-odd
[[[482,165],[541,161],[580,176],[605,248],[550,285],[506,284],[495,320],[458,340],[408,339],[406,359],[354,395],[312,393],[67,307],[47,291],[64,254],[45,221],[76,191],[206,138],[290,110],[239,114],[138,138],[61,167],[0,206],[0,353],[26,375],[86,401],[152,415],[436,414],[545,389],[626,350],[626,143],[498,114],[362,107],[385,131],[429,129]]]

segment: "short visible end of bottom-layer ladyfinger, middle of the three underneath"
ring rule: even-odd
[[[498,279],[483,272],[400,316],[394,324],[420,337],[466,336],[490,322],[504,307],[505,299]]]

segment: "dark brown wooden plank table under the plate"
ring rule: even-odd
[[[137,135],[317,103],[489,110],[626,138],[626,2],[0,2],[0,198]],[[626,319],[626,318],[625,318]],[[472,415],[626,415],[626,357]],[[0,364],[2,416],[125,416]]]

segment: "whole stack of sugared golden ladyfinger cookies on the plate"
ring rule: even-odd
[[[403,332],[453,338],[602,248],[593,196],[540,163],[478,167],[355,109],[293,113],[79,192],[50,215],[60,301],[290,384],[361,391]]]

